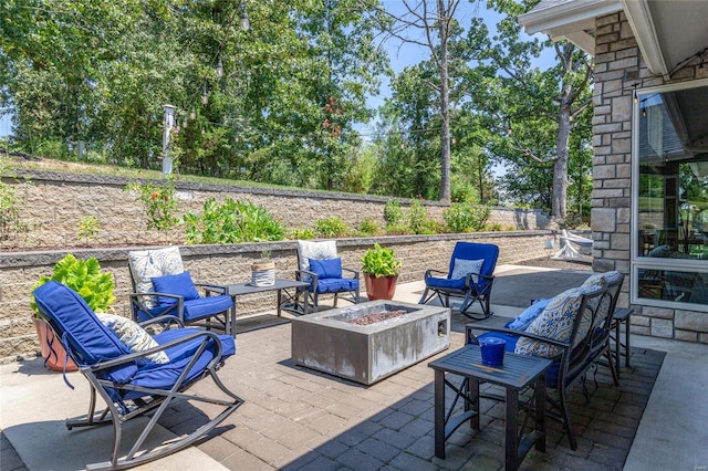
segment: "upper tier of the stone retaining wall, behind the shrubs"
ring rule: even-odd
[[[145,211],[136,201],[137,193],[125,189],[134,180],[51,171],[18,170],[17,174],[28,178],[30,184],[22,178],[4,178],[3,181],[15,185],[17,192],[24,197],[20,218],[30,230],[23,234],[9,234],[7,239],[0,237],[0,249],[80,248],[83,242],[77,239],[79,221],[83,216],[94,216],[101,223],[91,247],[185,243],[181,229],[167,233],[146,230]],[[177,182],[176,188],[179,216],[188,211],[201,213],[204,202],[209,198],[223,201],[230,197],[266,207],[288,228],[313,228],[315,221],[333,216],[342,218],[352,228],[358,227],[364,218],[373,219],[383,228],[387,201],[398,200],[404,209],[410,203],[410,200],[397,198],[183,181]],[[435,201],[425,205],[431,219],[442,221],[445,205]],[[539,210],[493,209],[490,222],[498,223],[503,230],[553,227],[550,218]]]

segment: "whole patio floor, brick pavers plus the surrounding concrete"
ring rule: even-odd
[[[535,293],[539,285],[549,291],[537,295],[551,295],[577,284],[587,271],[501,265],[497,274],[499,291],[492,300],[503,304],[492,306],[503,321],[520,311],[530,283]],[[399,285],[396,300],[417,302],[421,290],[421,283]],[[454,312],[451,349],[462,345],[467,322]],[[521,469],[705,467],[708,432],[702,423],[708,417],[700,391],[708,375],[699,368],[705,354],[705,345],[633,336],[632,368],[623,368],[618,388],[601,367],[598,388],[593,391],[592,378],[587,381],[589,405],[580,388],[573,394],[579,449],[571,451],[560,423],[551,420],[546,453],[532,451]],[[461,427],[448,441],[447,459],[434,458],[428,363],[365,387],[294,366],[287,320],[268,315],[242,321],[237,356],[221,371],[246,404],[214,437],[149,469],[501,469],[503,405],[491,401],[482,401],[481,431]],[[108,428],[69,432],[63,426],[65,417],[84,412],[87,388],[81,375],[67,375],[76,386],[73,391],[39,359],[4,365],[0,375],[0,426],[17,450],[12,453],[3,439],[0,468],[83,469],[86,462],[105,459],[107,448],[95,449],[104,442],[101,437],[111,433]],[[32,407],[48,405],[50,397],[59,399],[55,406]],[[169,423],[162,423],[165,433],[181,433],[201,420],[201,412],[191,407],[174,412]]]

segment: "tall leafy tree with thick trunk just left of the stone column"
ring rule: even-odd
[[[477,59],[494,78],[491,96],[483,105],[490,123],[498,123],[494,151],[516,165],[552,168],[552,214],[564,220],[568,212],[570,138],[583,112],[591,105],[591,59],[570,42],[523,40],[517,17],[537,1],[489,0],[507,17],[490,38],[485,24],[470,30]],[[552,46],[556,64],[546,71],[532,67],[532,60]],[[488,93],[478,90],[480,93]],[[499,125],[501,124],[501,126]],[[584,127],[586,130],[586,127]],[[551,136],[553,136],[551,138]]]

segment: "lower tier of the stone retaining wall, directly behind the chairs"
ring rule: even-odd
[[[402,283],[421,280],[427,269],[447,270],[455,242],[469,240],[496,243],[500,248],[499,263],[517,263],[545,257],[543,241],[548,231],[479,232],[472,234],[405,236],[367,239],[340,239],[339,252],[343,265],[361,270],[361,259],[374,241],[396,249],[403,260]],[[137,248],[79,249],[71,251],[0,252],[0,363],[31,357],[38,349],[31,321],[30,293],[40,275],[50,275],[54,264],[66,253],[76,258],[95,257],[115,279],[117,314],[128,315],[131,278],[127,253]],[[260,253],[271,250],[278,275],[292,278],[296,265],[295,242],[242,243],[232,245],[181,245],[185,269],[196,282],[229,284],[250,280],[250,265]],[[240,296],[238,315],[273,311],[274,293]]]

